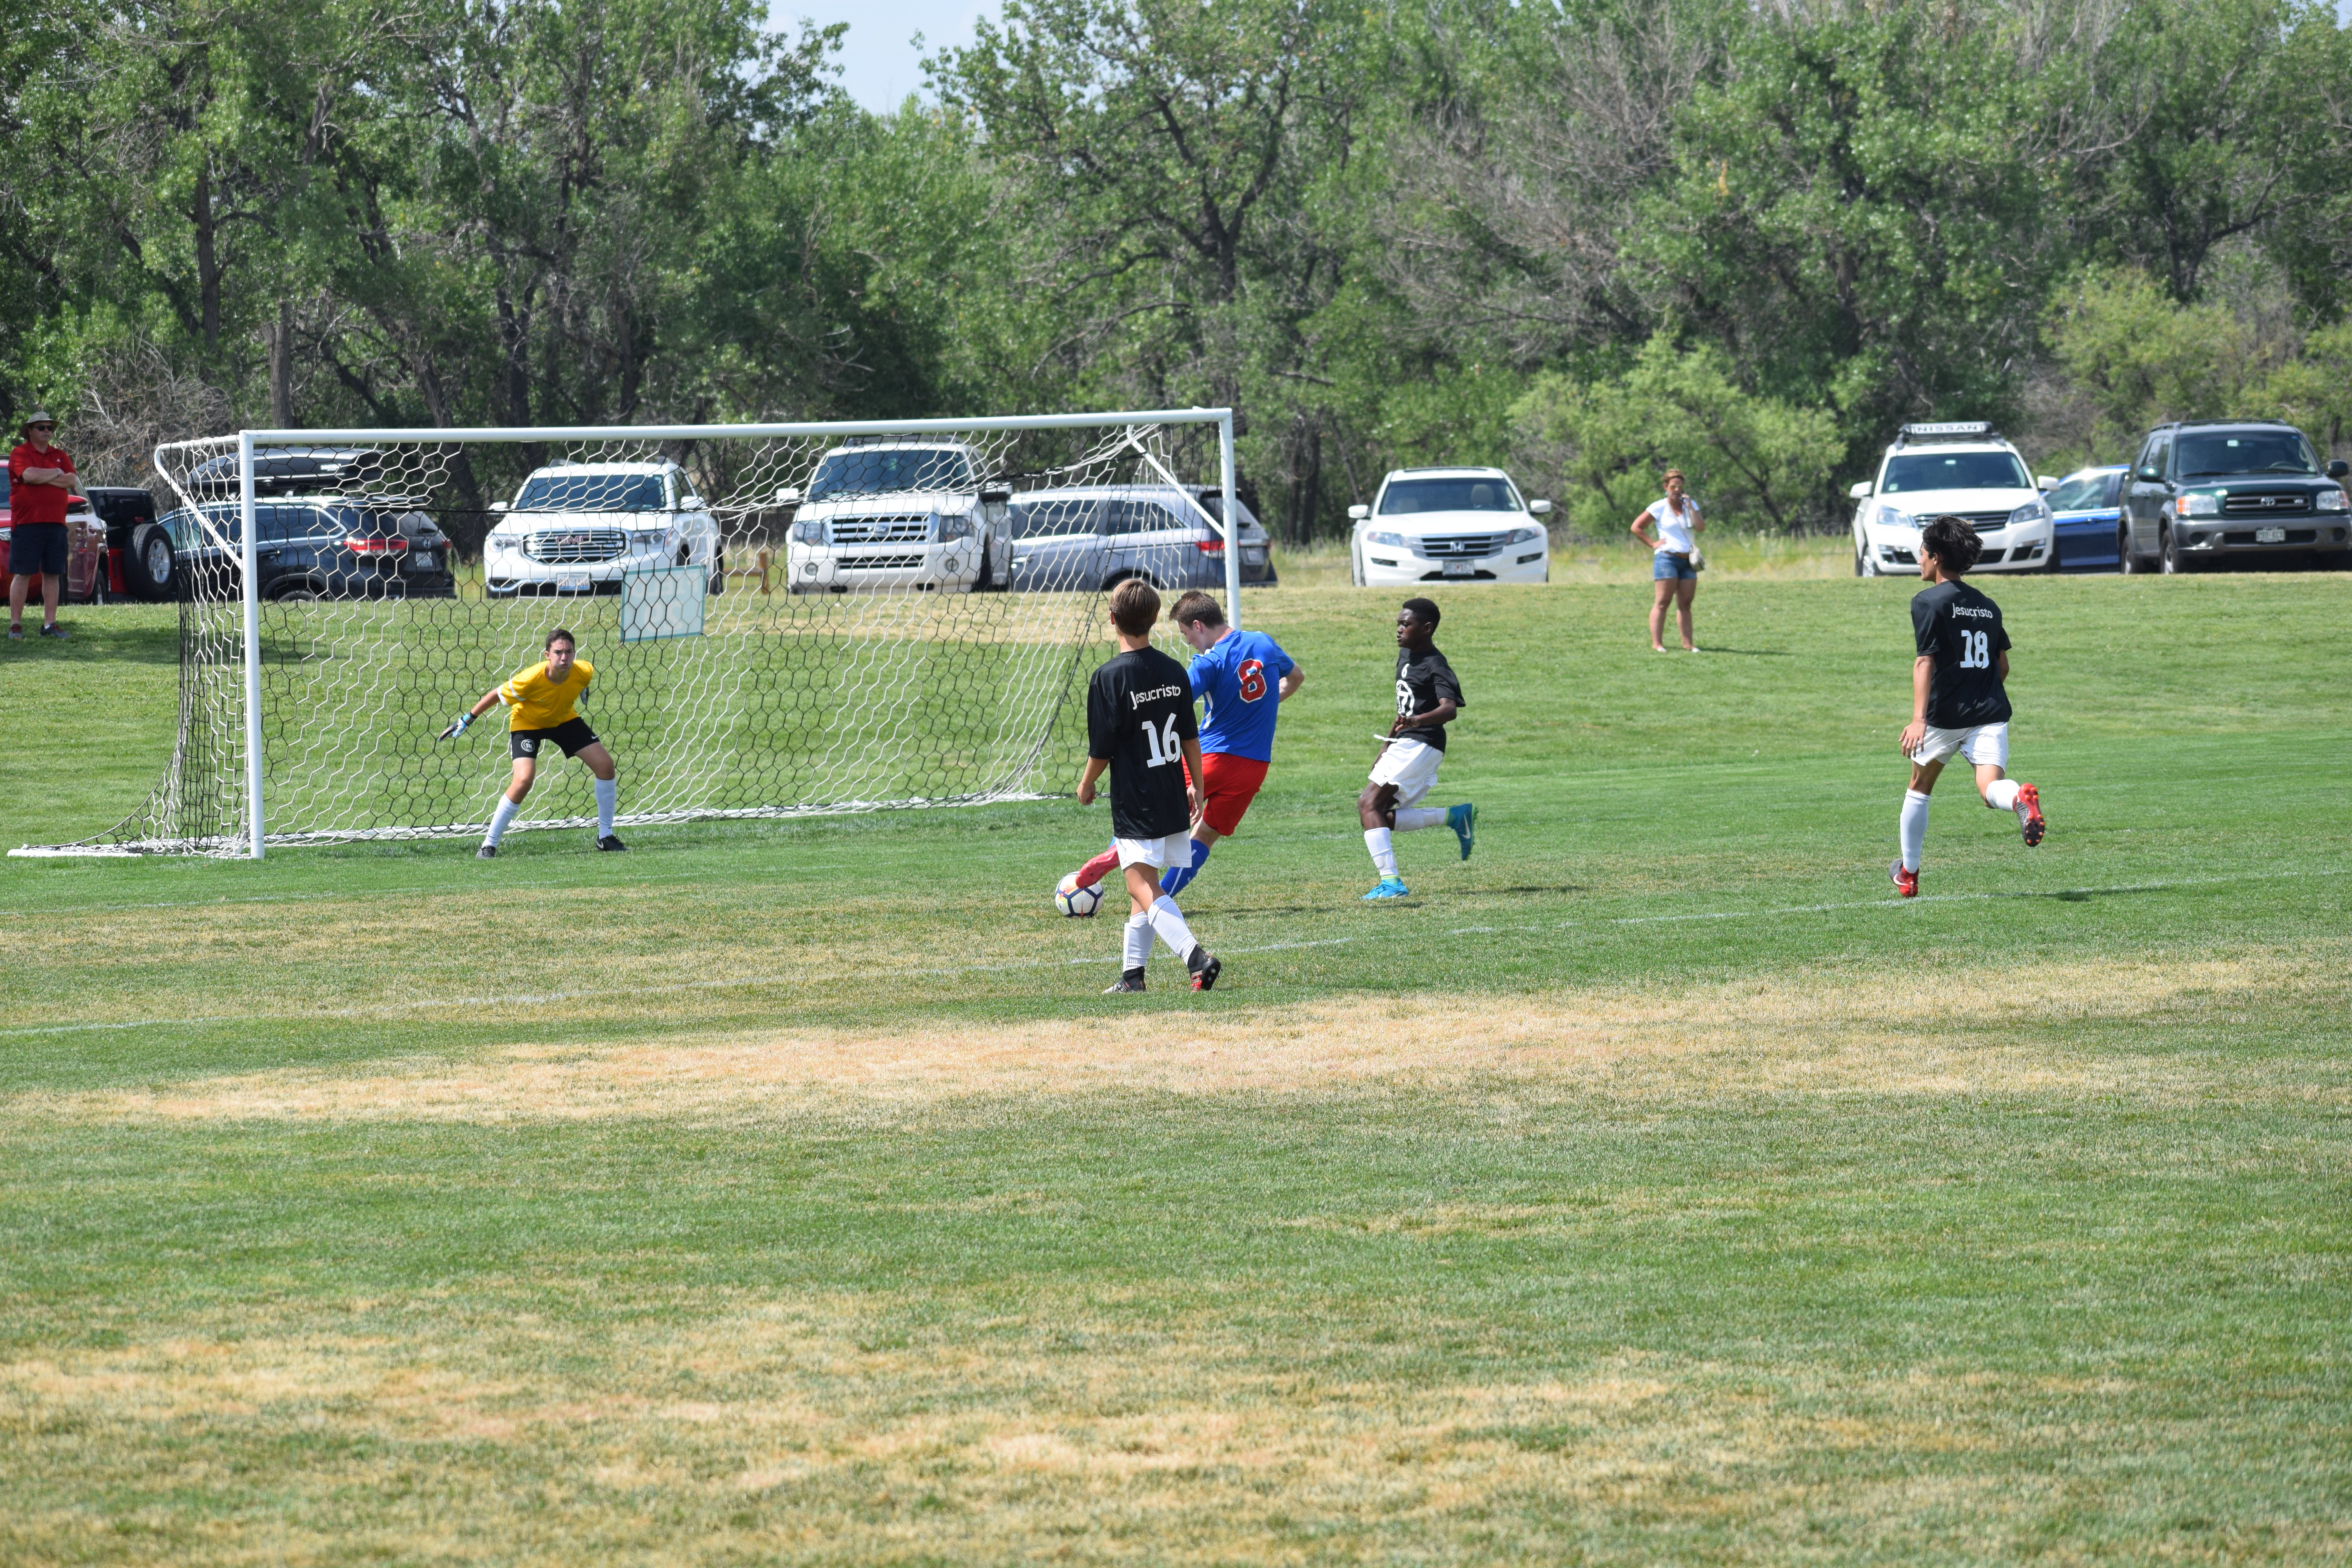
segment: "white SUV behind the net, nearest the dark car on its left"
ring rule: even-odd
[[[706,567],[720,592],[727,557],[710,505],[677,463],[550,463],[522,482],[482,541],[492,595],[621,592],[628,571]]]

